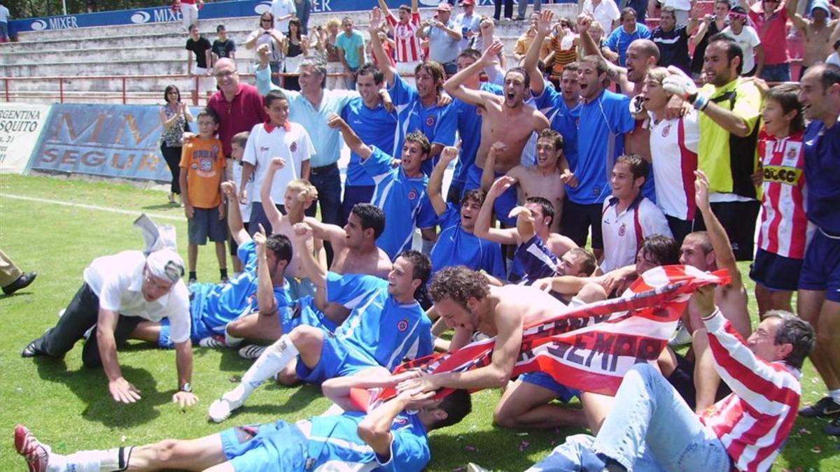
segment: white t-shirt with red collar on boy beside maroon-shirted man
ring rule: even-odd
[[[301,178],[301,166],[304,160],[315,154],[315,146],[309,138],[307,130],[298,123],[286,122],[289,129],[275,128],[269,124],[255,124],[251,128],[248,143],[245,144],[243,162],[255,165],[254,183],[251,194],[254,202],[262,202],[260,192],[265,174],[272,158],[282,157],[286,166],[277,170],[271,183],[271,199],[281,205],[289,182]]]

